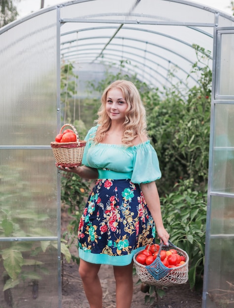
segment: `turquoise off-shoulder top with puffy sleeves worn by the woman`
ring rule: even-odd
[[[158,155],[149,140],[132,147],[95,144],[97,129],[98,126],[92,127],[85,137],[82,164],[97,168],[99,179],[131,179],[134,184],[141,184],[161,178]]]

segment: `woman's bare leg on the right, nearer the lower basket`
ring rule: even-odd
[[[130,308],[133,299],[133,262],[114,266],[116,281],[116,308]]]

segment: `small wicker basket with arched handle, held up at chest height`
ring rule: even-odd
[[[60,133],[62,134],[63,129],[66,126],[70,126],[75,135],[75,142],[51,142],[51,148],[55,157],[56,162],[62,167],[74,167],[80,166],[84,154],[86,141],[79,140],[79,136],[75,127],[71,124],[65,124],[61,127]]]

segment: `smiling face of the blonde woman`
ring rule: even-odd
[[[120,89],[114,88],[107,92],[105,106],[107,115],[112,121],[124,123],[125,112],[128,108],[128,104]]]

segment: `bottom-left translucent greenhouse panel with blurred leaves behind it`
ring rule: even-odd
[[[0,251],[5,258],[4,266],[11,269],[10,277],[0,262],[1,308],[59,307],[57,242],[0,242]],[[12,277],[15,286],[3,292],[4,282],[9,283]]]

